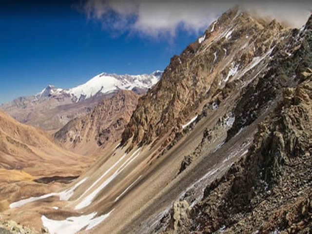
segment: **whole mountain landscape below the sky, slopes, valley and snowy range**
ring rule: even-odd
[[[311,106],[312,15],[232,7],[163,72],[2,105],[0,233],[309,234]]]

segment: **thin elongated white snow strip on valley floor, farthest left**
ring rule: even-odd
[[[74,186],[70,187],[69,189],[59,192],[59,193],[51,193],[51,194],[45,194],[39,197],[29,197],[27,199],[22,199],[16,202],[13,202],[10,204],[10,208],[18,208],[20,206],[23,206],[27,203],[30,202],[34,202],[34,201],[38,201],[38,200],[42,200],[51,196],[59,196],[59,200],[62,201],[68,201],[69,198],[71,198],[71,196],[74,194],[74,191],[76,188],[78,188],[78,186],[80,186],[84,181],[86,181],[88,179],[88,177],[85,177],[84,179],[80,180],[77,184],[75,184]]]

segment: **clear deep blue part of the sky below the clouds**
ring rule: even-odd
[[[124,31],[124,30],[122,30]],[[164,69],[198,33],[175,37],[112,31],[71,4],[24,5],[0,13],[0,103],[70,88],[100,72],[142,74]]]

